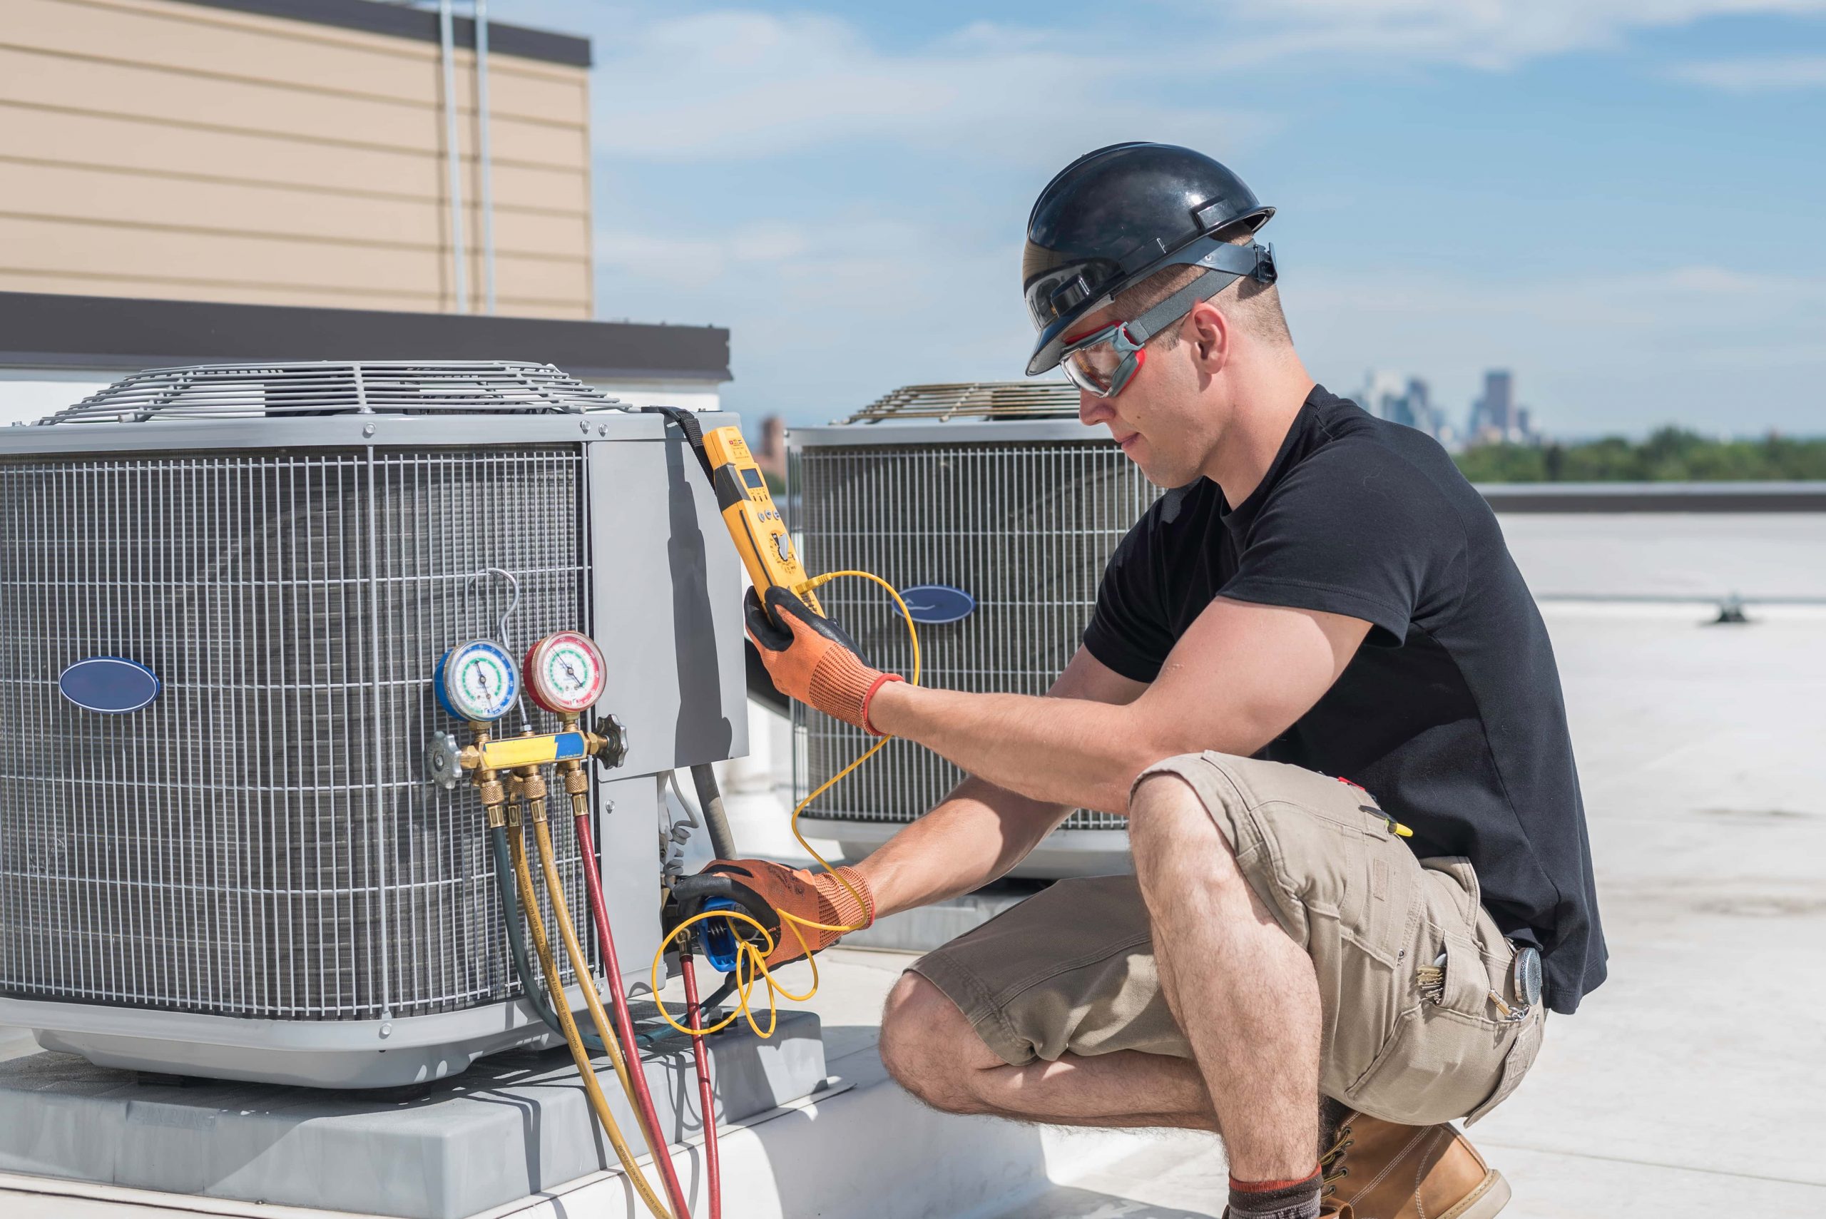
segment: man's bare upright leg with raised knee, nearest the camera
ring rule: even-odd
[[[1249,891],[1183,779],[1161,774],[1136,788],[1128,841],[1161,991],[1223,1128],[1231,1175],[1304,1179],[1318,1144],[1313,962]]]

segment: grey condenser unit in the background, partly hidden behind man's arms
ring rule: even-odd
[[[1077,650],[1103,568],[1158,491],[1065,381],[913,385],[844,423],[789,438],[789,502],[809,571],[860,568],[902,589],[920,622],[924,682],[1044,693]],[[875,664],[911,662],[900,615],[862,580],[818,591]],[[867,748],[856,728],[792,704],[794,799]],[[962,779],[891,741],[802,819],[867,854]],[[1017,876],[1127,870],[1121,818],[1079,808]]]

